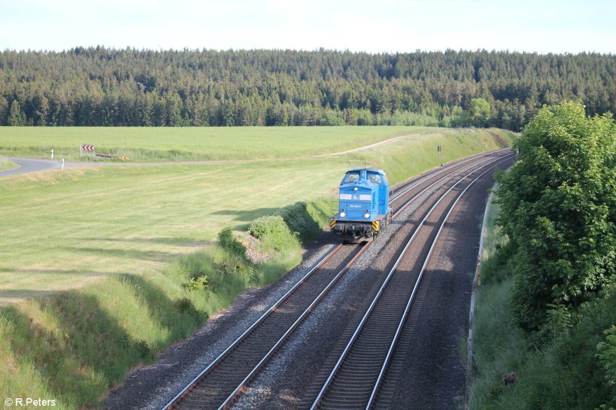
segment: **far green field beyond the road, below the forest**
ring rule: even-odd
[[[346,151],[429,127],[0,127],[0,156],[80,160],[79,146],[132,161],[306,157]],[[91,161],[92,154],[81,160]]]

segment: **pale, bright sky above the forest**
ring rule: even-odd
[[[616,54],[616,1],[0,0],[0,50]]]

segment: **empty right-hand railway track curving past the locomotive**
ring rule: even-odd
[[[322,387],[318,393],[308,393],[315,395],[311,410],[373,408],[402,329],[417,320],[417,305],[424,296],[418,293],[419,285],[448,216],[475,181],[508,160],[495,165],[490,162],[468,173],[434,203],[392,264],[359,324],[342,336],[348,342],[330,356],[325,368],[331,371]],[[482,169],[485,167],[487,170]]]

